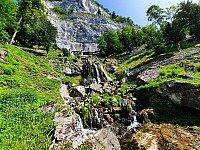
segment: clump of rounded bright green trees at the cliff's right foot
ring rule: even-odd
[[[143,43],[143,31],[139,27],[126,26],[117,33],[105,32],[99,38],[98,48],[102,54],[110,55],[123,52],[131,52],[134,47]]]

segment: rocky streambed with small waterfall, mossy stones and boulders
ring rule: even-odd
[[[141,106],[143,102],[134,97],[135,87],[127,88],[126,79],[113,81],[99,62],[88,59],[79,71],[81,85],[61,84],[64,104],[54,117],[57,126],[51,148],[200,148],[199,126],[153,123],[154,110]]]

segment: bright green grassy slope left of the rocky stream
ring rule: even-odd
[[[61,101],[60,80],[56,78],[62,75],[46,56],[10,45],[0,45],[0,49],[8,51],[8,56],[0,59],[0,147],[48,149],[53,113],[38,108],[49,101]]]

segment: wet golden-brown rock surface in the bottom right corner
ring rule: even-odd
[[[124,138],[121,145],[123,145],[122,149],[132,150],[198,150],[200,128],[195,129],[196,132],[190,127],[148,123],[144,124],[137,133],[129,134]]]

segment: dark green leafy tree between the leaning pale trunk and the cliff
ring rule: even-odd
[[[47,20],[40,0],[22,0],[19,16],[22,18],[16,39],[22,46],[43,46],[47,53],[55,41],[57,30]]]

